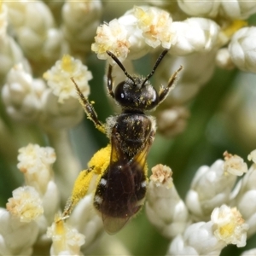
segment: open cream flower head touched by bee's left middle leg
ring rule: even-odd
[[[64,55],[61,61],[56,61],[55,66],[44,73],[44,79],[53,90],[53,94],[58,96],[58,102],[63,103],[70,96],[77,98],[77,91],[70,78],[76,81],[84,96],[90,94],[88,81],[92,79],[92,74],[86,66],[70,55]]]

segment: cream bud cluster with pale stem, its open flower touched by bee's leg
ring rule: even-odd
[[[57,183],[63,192],[61,198],[67,198],[67,188],[73,186],[70,181],[80,170],[67,128],[77,125],[83,119],[84,111],[71,77],[79,84],[84,96],[88,96],[88,81],[92,75],[82,61],[70,55],[64,55],[61,61],[56,61],[55,66],[44,73],[49,86],[43,79],[33,79],[32,74],[19,64],[10,69],[2,89],[3,103],[9,116],[15,121],[37,124],[40,129],[43,128],[51,145],[56,148],[61,159],[55,167],[60,177]]]

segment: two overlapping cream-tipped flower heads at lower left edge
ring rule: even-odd
[[[25,186],[15,189],[6,209],[1,208],[1,255],[31,255],[36,241],[44,239],[59,207],[59,194],[51,166],[53,148],[29,144],[20,148],[18,168],[24,173]]]

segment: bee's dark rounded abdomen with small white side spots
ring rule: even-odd
[[[98,183],[94,206],[105,216],[112,218],[131,217],[143,205],[146,194],[146,177],[142,171],[130,166],[112,166]]]

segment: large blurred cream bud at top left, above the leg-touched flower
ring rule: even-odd
[[[25,54],[35,62],[40,61],[40,66],[44,61],[57,59],[63,39],[54,27],[49,7],[41,1],[6,1],[6,4],[10,26]]]

